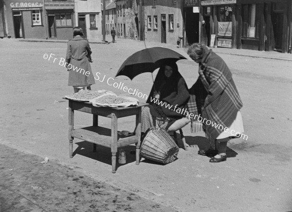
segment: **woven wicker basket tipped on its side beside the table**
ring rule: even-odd
[[[150,128],[146,131],[141,144],[141,157],[167,164],[174,161],[178,153],[179,147],[164,129]]]

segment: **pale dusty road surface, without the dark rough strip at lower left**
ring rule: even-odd
[[[187,57],[186,49],[177,49],[175,45],[152,42],[146,45],[173,48]],[[0,89],[4,99],[0,102],[4,109],[0,111],[0,144],[41,158],[48,156],[50,161],[73,167],[82,176],[178,211],[292,211],[290,60],[219,53],[230,67],[243,100],[241,113],[245,134],[249,136],[246,141],[234,139],[229,143],[226,162],[210,164],[208,158],[197,154],[197,148],[190,148],[187,152],[180,149],[179,159],[166,166],[146,160],[137,166],[129,154],[134,147],[129,146],[125,149],[127,164],[120,165],[117,173],[112,174],[107,148],[99,148],[93,154],[90,144],[76,139],[75,155],[68,157],[68,102],[62,97],[73,89],[67,86],[66,69],[57,61],[43,58],[51,53],[55,58],[64,58],[66,43],[3,39],[0,46]],[[108,45],[91,44],[91,48],[93,73],[99,72],[107,79],[115,76],[128,56],[145,47],[143,42],[117,40]],[[191,60],[181,60],[178,66],[190,87],[198,77],[198,66]],[[127,77],[114,80],[143,94],[148,94],[152,86],[151,74],[132,81]],[[92,89],[126,95],[106,82],[97,81]],[[132,130],[133,120],[134,117],[122,119],[118,129]],[[99,122],[110,126],[107,118],[100,118]],[[91,116],[76,113],[75,123],[77,127],[91,125]],[[183,132],[187,143],[206,146],[203,135],[191,134],[189,126]]]

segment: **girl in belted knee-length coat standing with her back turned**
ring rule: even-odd
[[[69,71],[69,86],[73,86],[74,93],[80,90],[91,90],[91,85],[95,84],[91,72],[91,48],[87,39],[83,39],[81,27],[73,28],[73,39],[67,44],[66,68]]]

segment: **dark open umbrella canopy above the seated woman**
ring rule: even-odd
[[[167,60],[178,61],[187,59],[181,54],[163,47],[146,48],[128,57],[121,65],[117,76],[127,76],[133,79],[137,75],[145,72],[154,72],[160,68]]]

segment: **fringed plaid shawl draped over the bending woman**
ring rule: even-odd
[[[204,130],[209,138],[215,140],[222,127],[212,126],[212,122],[230,127],[242,107],[240,96],[226,63],[211,49],[203,48],[203,58],[199,66],[199,78],[189,89],[189,113],[206,118]],[[192,119],[192,132],[200,130],[198,116]],[[202,119],[203,120],[203,119]],[[206,121],[208,123],[206,124]],[[200,120],[199,120],[200,121]]]

